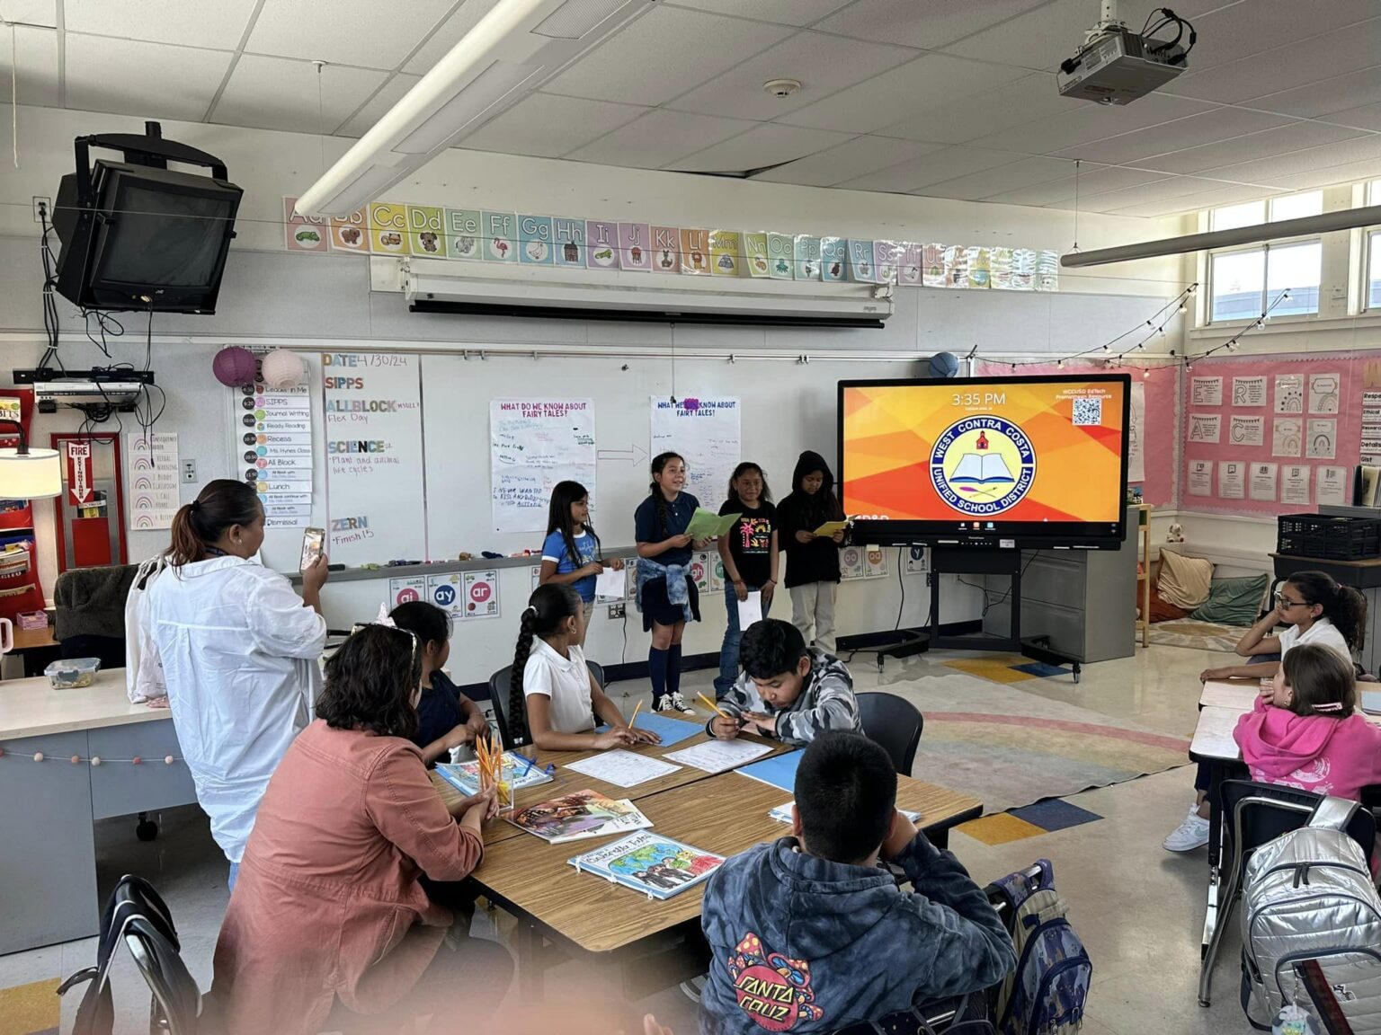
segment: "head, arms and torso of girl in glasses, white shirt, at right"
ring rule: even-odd
[[[1302,643],[1337,651],[1352,664],[1362,649],[1367,602],[1349,585],[1340,585],[1323,571],[1297,571],[1275,596],[1272,611],[1237,640],[1237,654],[1253,658],[1246,665],[1206,668],[1199,679],[1271,679],[1280,660]],[[1276,633],[1276,628],[1286,628]]]

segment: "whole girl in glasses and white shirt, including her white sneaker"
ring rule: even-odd
[[[1322,647],[1345,661],[1349,672],[1352,651],[1362,649],[1367,602],[1356,589],[1340,585],[1324,571],[1297,571],[1275,596],[1276,606],[1237,642],[1237,654],[1253,658],[1246,665],[1206,668],[1199,679],[1273,679],[1282,660],[1301,646]],[[1284,625],[1279,633],[1276,628]],[[1264,697],[1271,697],[1268,687]],[[1193,851],[1208,843],[1208,766],[1199,763],[1195,776],[1195,803],[1170,836],[1167,851]]]

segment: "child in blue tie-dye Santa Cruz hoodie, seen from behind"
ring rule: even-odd
[[[987,897],[896,810],[892,762],[862,734],[822,733],[805,749],[793,835],[735,856],[706,889],[707,1035],[833,1032],[989,988],[1015,967]]]

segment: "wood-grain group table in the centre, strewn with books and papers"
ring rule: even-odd
[[[699,771],[699,770],[697,770]],[[732,856],[790,834],[768,811],[791,799],[742,773],[704,778],[638,800],[653,831],[697,849]],[[952,827],[976,818],[982,802],[898,777],[898,806],[921,813],[921,827],[945,843]],[[541,995],[547,958],[619,963],[624,992],[641,999],[703,974],[708,955],[700,933],[704,883],[666,901],[577,874],[568,860],[612,843],[590,838],[547,845],[523,835],[490,845],[471,879],[481,894],[518,919],[518,980],[525,998]]]

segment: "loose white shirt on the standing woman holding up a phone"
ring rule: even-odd
[[[269,777],[311,720],[326,620],[242,558],[168,569],[146,606],[196,800],[239,862]]]

